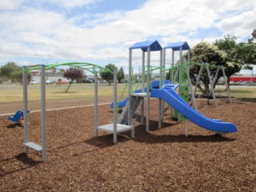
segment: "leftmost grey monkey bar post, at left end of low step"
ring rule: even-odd
[[[29,142],[29,126],[27,115],[27,75],[26,66],[23,66],[23,110],[24,110],[24,143]],[[24,146],[24,151],[27,154],[29,152],[28,146]]]

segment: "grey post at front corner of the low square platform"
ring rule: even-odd
[[[118,133],[117,133],[117,101],[118,101],[118,91],[117,91],[117,69],[114,69],[114,131],[113,131],[113,142],[118,142]]]

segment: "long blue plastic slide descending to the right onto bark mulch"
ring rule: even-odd
[[[194,122],[206,130],[213,130],[221,133],[238,131],[237,127],[231,122],[222,122],[220,120],[206,118],[202,114],[199,114],[196,110],[186,104],[186,102],[182,102],[182,98],[180,98],[174,90],[152,89],[150,97],[162,98],[170,106],[174,107],[175,110],[178,110],[180,114],[183,114],[186,118],[190,119],[191,122]]]

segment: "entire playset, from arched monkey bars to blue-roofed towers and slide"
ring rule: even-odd
[[[176,70],[176,74],[172,72],[171,81],[164,79],[164,72],[166,71],[166,49],[173,50],[172,71]],[[139,91],[132,91],[132,50],[142,50],[142,71],[146,71],[146,79],[142,75],[141,89]],[[164,50],[164,54],[163,51]],[[179,65],[174,66],[174,51],[180,51]],[[150,130],[150,97],[158,98],[158,128],[162,127],[163,120],[163,108],[164,102],[169,106],[172,106],[175,111],[174,115],[178,118],[178,121],[184,119],[190,119],[198,126],[202,126],[207,130],[213,130],[219,133],[231,133],[236,132],[237,128],[230,122],[222,122],[221,120],[215,120],[206,118],[202,114],[199,114],[196,110],[191,108],[188,104],[189,90],[192,93],[192,84],[189,75],[189,63],[182,62],[182,50],[190,50],[190,47],[186,42],[178,42],[168,44],[164,49],[158,43],[158,41],[137,42],[129,49],[129,76],[128,76],[128,92],[129,96],[126,99],[126,105],[122,114],[118,118],[118,101],[117,101],[117,70],[114,70],[114,119],[113,123],[98,126],[98,72],[99,70],[106,70],[102,66],[86,62],[69,62],[60,64],[38,65],[31,68],[23,66],[23,103],[24,103],[24,150],[26,153],[29,149],[34,149],[42,153],[42,161],[47,161],[46,156],[46,70],[57,66],[76,66],[83,70],[88,70],[94,74],[94,135],[98,137],[98,130],[103,130],[113,134],[113,142],[117,141],[117,134],[123,131],[131,130],[131,137],[134,138],[134,120],[132,119],[136,110],[140,111],[141,123],[144,123],[144,102],[146,101],[146,131]],[[154,82],[150,82],[150,52],[160,52],[160,80],[154,85]],[[147,54],[147,55],[146,55]],[[145,59],[147,56],[147,59]],[[163,62],[164,61],[164,62]],[[29,139],[29,126],[28,126],[28,95],[26,84],[26,73],[30,70],[41,70],[41,130],[42,130],[42,145],[32,142]],[[185,72],[182,72],[185,71]],[[178,80],[175,80],[178,78]],[[176,84],[175,84],[176,82]],[[177,84],[178,83],[178,84]],[[174,90],[178,88],[178,93]],[[214,90],[213,90],[214,91]],[[192,102],[196,109],[194,94],[191,94]],[[176,114],[175,114],[176,113]],[[182,119],[184,118],[184,119]],[[187,125],[187,123],[186,123]],[[188,128],[186,126],[186,135]]]

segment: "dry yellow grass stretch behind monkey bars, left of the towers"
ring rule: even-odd
[[[94,98],[94,84],[74,84],[70,86],[70,90],[65,93],[65,85],[47,85],[46,86],[46,100],[66,99],[66,98]],[[122,95],[122,90],[125,84],[118,84],[118,98]],[[22,102],[23,101],[23,87],[16,85],[13,87],[0,87],[0,103],[4,102]],[[113,85],[98,84],[98,97],[113,98]],[[123,94],[126,97],[127,94]],[[40,85],[28,86],[28,100],[39,101],[41,99]]]

